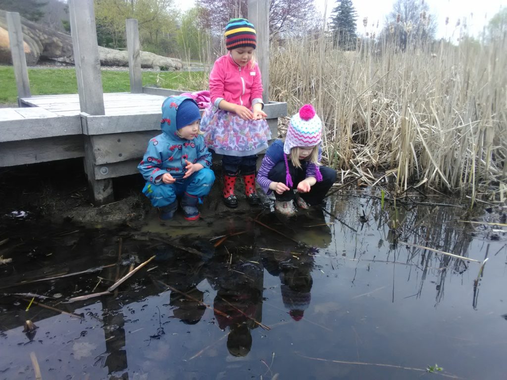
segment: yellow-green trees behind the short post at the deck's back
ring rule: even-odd
[[[125,20],[137,19],[141,49],[168,55],[175,53],[178,12],[173,0],[94,0],[99,45],[126,47]]]

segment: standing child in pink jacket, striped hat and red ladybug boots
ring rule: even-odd
[[[217,59],[209,74],[211,104],[201,121],[206,145],[223,155],[224,188],[227,207],[235,208],[236,177],[245,182],[246,200],[259,204],[255,188],[257,154],[268,147],[271,132],[262,108],[261,71],[253,58],[256,31],[246,19],[231,19],[225,31],[229,53]]]

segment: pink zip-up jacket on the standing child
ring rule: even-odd
[[[264,107],[261,70],[257,63],[253,68],[249,66],[248,63],[240,67],[230,53],[215,61],[209,73],[209,93],[215,107],[218,108],[223,99],[249,109],[256,103],[262,103]]]

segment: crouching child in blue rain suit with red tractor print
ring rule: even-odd
[[[187,220],[199,219],[197,204],[208,195],[215,176],[211,154],[200,135],[201,114],[188,97],[170,96],[162,104],[162,134],[152,138],[137,169],[146,179],[142,193],[159,207],[161,219],[171,219],[181,198]]]

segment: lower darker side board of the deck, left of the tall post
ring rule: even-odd
[[[83,135],[0,142],[0,167],[83,156]]]

